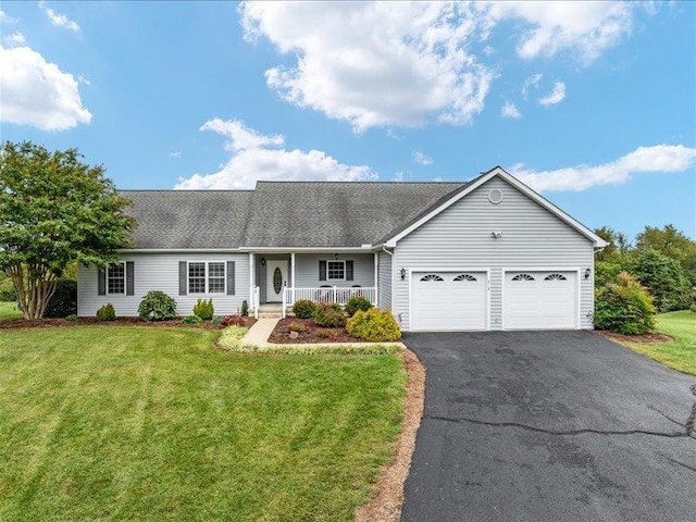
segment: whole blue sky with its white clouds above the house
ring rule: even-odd
[[[696,3],[12,2],[2,140],[120,188],[467,181],[696,236]]]

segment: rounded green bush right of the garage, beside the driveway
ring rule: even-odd
[[[624,335],[641,335],[655,327],[652,297],[627,272],[616,283],[595,290],[595,327]]]

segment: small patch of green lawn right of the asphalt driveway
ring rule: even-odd
[[[661,313],[656,330],[674,338],[672,343],[625,343],[644,356],[689,375],[696,375],[696,313],[688,310]]]

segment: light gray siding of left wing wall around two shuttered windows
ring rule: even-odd
[[[176,299],[177,313],[192,313],[198,298],[213,300],[215,315],[237,313],[241,301],[249,300],[249,256],[229,253],[126,253],[121,261],[133,261],[135,295],[97,295],[97,270],[79,266],[77,284],[78,315],[95,315],[104,303],[111,302],[116,315],[138,314],[138,304],[150,290],[162,290]],[[235,295],[178,295],[179,261],[235,261]]]

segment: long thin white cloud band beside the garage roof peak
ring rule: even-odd
[[[510,173],[535,190],[585,190],[600,185],[620,185],[639,173],[684,172],[693,167],[696,149],[683,145],[638,147],[633,152],[600,165],[577,165],[535,172],[517,164]]]

